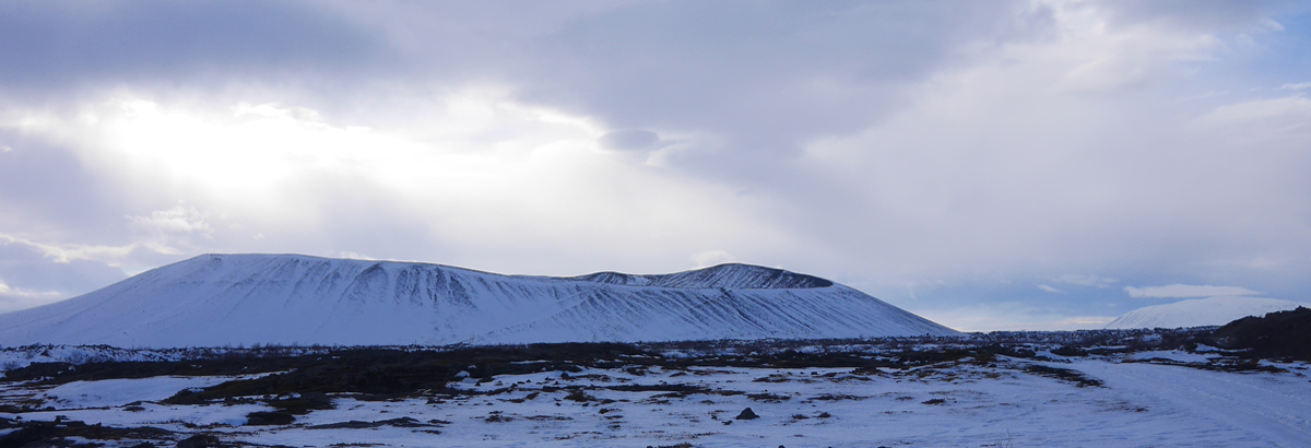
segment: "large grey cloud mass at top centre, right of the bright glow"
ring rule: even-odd
[[[1011,20],[1017,10],[1042,16],[1013,1],[645,3],[545,35],[517,81],[617,127],[716,132],[741,157],[785,153],[894,110],[898,88],[966,43],[1045,30]]]

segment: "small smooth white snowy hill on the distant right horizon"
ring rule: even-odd
[[[1175,329],[1185,326],[1224,325],[1247,316],[1265,316],[1303,303],[1262,297],[1190,299],[1165,305],[1138,308],[1106,324],[1108,329]]]

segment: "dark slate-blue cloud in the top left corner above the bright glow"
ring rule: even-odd
[[[309,3],[0,3],[5,62],[0,84],[9,93],[58,94],[83,84],[229,81],[277,77],[279,71],[342,76],[367,68],[384,56],[383,50]]]

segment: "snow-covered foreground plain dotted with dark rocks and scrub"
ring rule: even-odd
[[[458,375],[447,388],[479,393],[332,394],[334,409],[271,426],[246,424],[249,413],[274,411],[266,402],[161,403],[233,377],[0,383],[0,405],[45,409],[0,419],[172,432],[152,445],[197,434],[287,447],[1311,445],[1311,365],[1262,360],[1257,371],[1215,371],[1207,368],[1224,356],[1203,348],[1078,358],[1040,348],[1032,358],[874,369],[629,364]],[[746,407],[759,418],[735,419]]]

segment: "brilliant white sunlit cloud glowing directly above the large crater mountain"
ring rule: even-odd
[[[594,258],[594,244],[611,241],[610,257],[673,253],[665,257],[676,261],[665,269],[675,270],[687,267],[687,253],[724,238],[785,240],[768,224],[747,224],[750,211],[725,202],[732,190],[595,151],[606,132],[587,118],[496,89],[455,92],[422,113],[431,122],[416,135],[337,123],[295,105],[160,102],[115,92],[72,113],[13,111],[12,122],[30,139],[76,153],[97,177],[113,179],[119,195],[185,204],[121,215],[131,231],[123,237],[136,242],[97,259],[136,249],[284,245],[336,255],[372,246],[371,254],[392,248],[378,254],[391,259],[576,274],[552,257],[522,254]],[[388,228],[410,238],[387,237],[380,229]],[[43,246],[56,257],[93,258],[77,245]],[[450,259],[434,259],[434,249]],[[621,267],[590,263],[600,266],[576,269]]]

